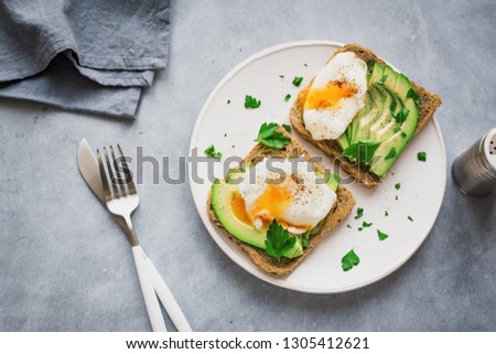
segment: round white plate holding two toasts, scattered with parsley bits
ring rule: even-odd
[[[222,161],[213,163],[213,172],[216,178],[224,178],[224,161],[229,157],[245,157],[254,148],[261,124],[289,124],[289,110],[299,90],[308,85],[339,46],[341,43],[327,41],[292,42],[261,51],[239,64],[220,81],[204,104],[190,148],[197,148],[200,155],[211,144],[222,151],[224,157]],[[300,88],[292,84],[294,76],[304,77]],[[289,101],[284,100],[287,94],[291,95]],[[261,106],[246,109],[245,95],[260,99]],[[311,154],[322,155],[298,133],[292,135]],[[419,151],[427,152],[427,162],[418,161]],[[325,158],[324,165],[333,168]],[[356,182],[348,182],[346,186],[355,195],[356,207],[364,208],[364,216],[355,219],[355,207],[285,278],[261,271],[211,223],[206,213],[206,200],[212,186],[207,163],[192,167],[188,174],[200,216],[230,259],[251,275],[278,287],[311,293],[335,293],[367,286],[390,275],[420,247],[441,207],[446,159],[441,130],[433,118],[410,141],[381,185],[367,190]],[[342,176],[345,174],[342,173]],[[397,183],[401,184],[399,190],[395,187]],[[389,215],[385,216],[385,212]],[[373,226],[360,232],[358,227],[364,221],[373,223]],[[377,229],[389,237],[380,242]],[[360,262],[343,271],[341,259],[351,249],[355,250]]]

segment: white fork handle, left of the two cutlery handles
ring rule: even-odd
[[[134,256],[136,269],[140,279],[141,292],[143,293],[144,304],[147,307],[148,317],[153,332],[166,332],[165,322],[163,321],[162,310],[160,309],[159,299],[153,289],[152,279],[147,270],[148,266],[144,259],[144,253],[141,246],[132,247]]]

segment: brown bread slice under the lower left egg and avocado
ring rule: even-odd
[[[291,135],[289,135],[282,128],[279,128],[279,131],[287,135],[288,137],[291,137]],[[313,163],[315,171],[324,173],[324,167],[319,162],[313,161],[309,152],[292,137],[291,142],[281,150],[271,149],[261,143],[257,144],[244,159],[244,162],[257,163],[263,158],[296,158],[301,155],[304,155],[306,161],[311,161]],[[316,235],[310,236],[309,247],[304,249],[303,254],[300,257],[292,259],[283,257],[280,262],[267,255],[263,249],[240,242],[235,236],[230,235],[215,215],[215,212],[212,207],[211,194],[208,194],[207,200],[207,213],[211,221],[215,225],[220,227],[233,242],[238,244],[254,264],[271,275],[285,276],[291,273],[306,258],[312,249],[316,245],[319,245],[322,239],[324,239],[325,235],[330,230],[335,228],[339,224],[339,222],[343,221],[353,211],[353,207],[355,206],[355,197],[353,196],[352,192],[349,192],[343,185],[339,185],[337,187],[336,194],[336,203],[325,217],[321,232]]]

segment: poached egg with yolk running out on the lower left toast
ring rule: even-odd
[[[260,229],[276,219],[292,234],[315,227],[336,201],[304,159],[267,159],[247,170],[233,200],[233,211]]]

